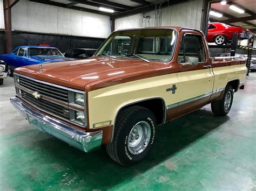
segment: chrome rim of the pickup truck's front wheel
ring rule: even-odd
[[[142,153],[149,145],[151,137],[150,124],[141,121],[133,126],[128,136],[128,150],[131,154],[137,155]]]

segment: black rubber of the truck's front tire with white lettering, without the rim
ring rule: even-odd
[[[151,134],[149,139],[147,139],[147,142],[142,141],[145,139],[142,139],[139,142],[139,145],[144,145],[144,150],[140,150],[142,152],[134,154],[129,146],[131,143],[130,141],[132,141],[132,138],[129,138],[129,135],[132,136],[130,133],[133,132],[132,130],[134,130],[136,124],[142,122],[149,124],[147,128],[150,128]],[[112,143],[106,145],[107,154],[109,154],[114,161],[123,166],[137,164],[138,162],[142,161],[151,151],[155,139],[156,125],[156,118],[149,109],[133,106],[121,110],[117,116]],[[137,139],[135,141],[137,141]]]

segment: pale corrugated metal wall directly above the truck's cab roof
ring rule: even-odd
[[[203,15],[203,0],[170,5],[160,10],[160,26],[184,26],[199,29]],[[115,29],[156,26],[155,11],[118,18]],[[157,17],[158,19],[158,17]]]

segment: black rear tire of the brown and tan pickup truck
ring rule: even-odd
[[[230,104],[225,103],[225,98],[226,96],[230,95]],[[223,97],[221,98],[220,101],[212,102],[211,103],[211,108],[213,114],[217,116],[225,116],[230,112],[232,103],[233,103],[233,88],[230,86],[230,84],[227,84]],[[228,97],[229,98],[229,97]],[[229,99],[228,99],[229,100]]]

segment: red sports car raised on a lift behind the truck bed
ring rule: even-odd
[[[227,44],[232,41],[234,32],[238,33],[240,39],[252,38],[252,33],[248,29],[242,29],[237,26],[229,26],[224,23],[209,23],[207,31],[208,43],[215,43],[217,45]]]

